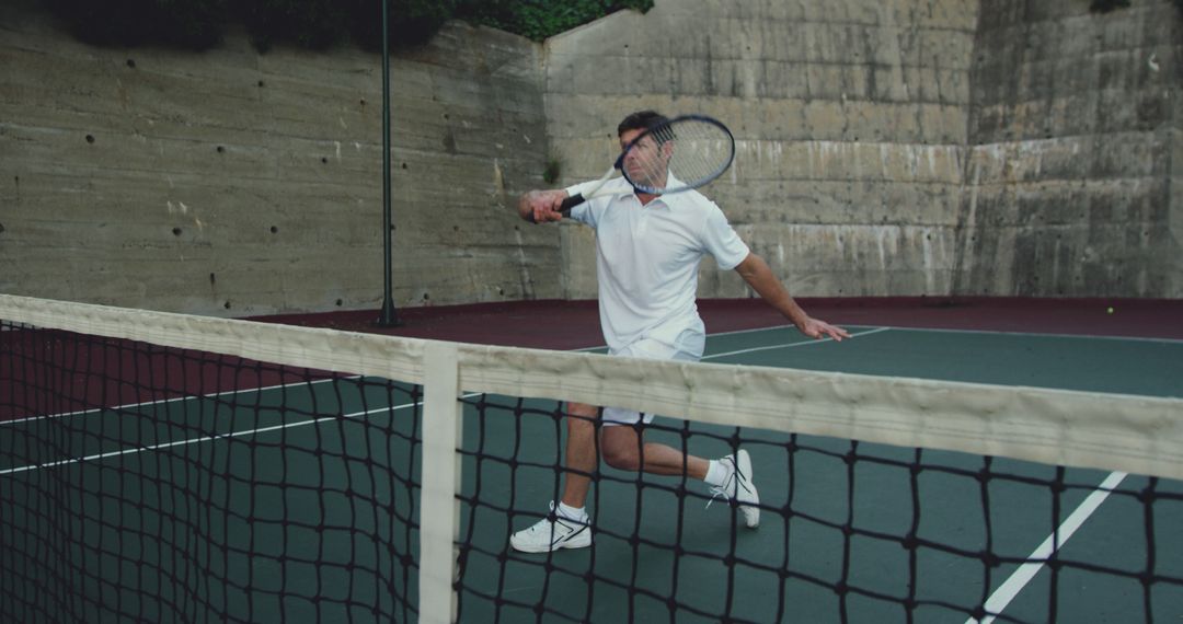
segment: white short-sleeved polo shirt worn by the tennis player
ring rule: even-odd
[[[684,331],[705,333],[694,303],[699,261],[711,254],[729,271],[748,258],[748,246],[723,210],[698,191],[642,206],[623,177],[609,180],[605,189],[614,193],[575,207],[570,216],[596,233],[600,326],[608,347],[619,351],[642,338],[674,345]]]

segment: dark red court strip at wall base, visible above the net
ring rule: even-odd
[[[888,297],[797,303],[810,316],[840,325],[1183,339],[1183,299]],[[709,333],[787,323],[758,299],[699,300],[698,307]],[[379,326],[374,310],[254,320],[539,349],[603,344],[596,303],[589,300],[411,307],[397,314],[399,327]]]

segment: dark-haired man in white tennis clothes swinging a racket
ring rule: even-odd
[[[625,158],[621,168],[638,186],[662,187],[639,181],[641,161],[668,160],[668,143],[654,135],[633,145],[646,130],[667,119],[654,111],[626,117],[616,129]],[[644,144],[652,142],[652,144]],[[631,149],[629,149],[631,148]],[[661,173],[649,176],[665,176]],[[522,196],[518,214],[526,221],[558,221],[560,204],[588,184],[568,189],[535,190]],[[652,195],[635,190],[625,178],[608,181],[609,193],[596,191],[593,199],[571,209],[570,217],[596,233],[596,277],[600,287],[600,325],[609,355],[651,359],[694,360],[703,356],[705,327],[698,316],[696,293],[698,265],[711,254],[719,268],[735,269],[772,307],[810,338],[841,340],[849,334],[822,320],[810,318],[789,297],[768,264],[751,253],[713,202],[694,190]],[[599,409],[569,403],[567,457],[569,470],[563,498],[551,513],[536,525],[515,533],[510,545],[523,552],[549,552],[592,545],[589,516],[584,511],[590,474],[596,467],[596,417]],[[759,524],[759,496],[752,483],[751,460],[739,450],[719,460],[689,455],[666,444],[644,442],[644,427],[652,414],[605,408],[600,451],[609,466],[659,475],[685,475],[705,481],[716,496],[735,500],[744,524]],[[642,444],[644,442],[644,444]]]

